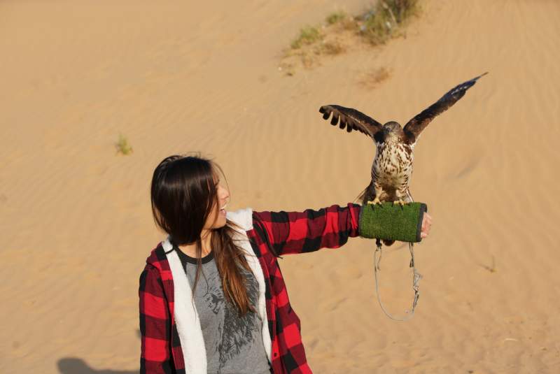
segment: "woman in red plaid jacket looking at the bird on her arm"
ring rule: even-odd
[[[155,168],[153,217],[168,236],[140,276],[141,373],[311,373],[276,259],[340,247],[361,231],[374,237],[383,222],[360,217],[353,203],[226,213],[221,175],[201,157],[171,156]],[[419,206],[414,241],[430,229]]]

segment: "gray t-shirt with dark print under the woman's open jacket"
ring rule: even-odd
[[[175,246],[192,288],[196,259]],[[246,277],[251,305],[258,303],[258,282],[253,273],[240,268]],[[268,357],[262,343],[262,321],[255,312],[239,317],[237,308],[223,294],[222,280],[214,252],[202,257],[202,269],[195,289],[195,308],[200,317],[209,374],[270,374]]]

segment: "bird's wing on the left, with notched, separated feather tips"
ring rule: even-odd
[[[378,131],[381,131],[383,127],[373,118],[367,117],[367,115],[358,112],[356,109],[344,108],[344,106],[325,105],[319,108],[319,112],[323,113],[323,120],[328,120],[330,113],[332,113],[332,120],[330,120],[332,126],[336,126],[340,119],[339,127],[341,129],[346,127],[346,131],[348,132],[358,130],[372,138]]]

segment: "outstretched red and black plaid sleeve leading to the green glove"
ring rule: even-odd
[[[349,203],[303,212],[253,212],[276,256],[337,248],[358,236],[361,206]]]

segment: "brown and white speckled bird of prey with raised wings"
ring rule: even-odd
[[[409,180],[412,175],[412,160],[414,145],[423,129],[447,108],[461,99],[467,89],[486,75],[486,73],[467,80],[444,94],[441,99],[433,103],[419,115],[405,125],[404,128],[398,122],[387,122],[380,124],[376,120],[359,112],[356,109],[344,108],[337,105],[321,106],[319,112],[323,113],[323,119],[328,120],[332,113],[330,124],[337,125],[346,131],[358,130],[373,138],[377,145],[377,152],[372,164],[370,185],[360,195],[362,203],[382,203],[393,201],[393,203],[405,203],[412,201],[409,192]]]

